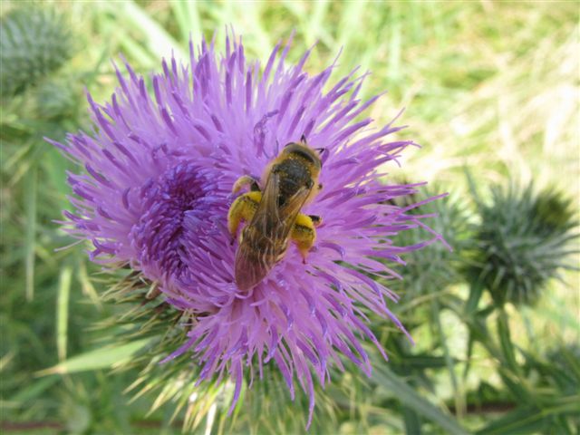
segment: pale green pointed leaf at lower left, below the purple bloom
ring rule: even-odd
[[[87,353],[73,356],[66,361],[60,362],[53,367],[38,372],[44,376],[53,373],[76,373],[91,370],[108,369],[123,362],[127,362],[134,353],[145,347],[150,342],[149,338],[136,340],[121,346],[107,346],[95,349]]]

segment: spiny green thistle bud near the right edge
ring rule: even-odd
[[[547,280],[574,268],[575,214],[555,190],[494,186],[478,211],[469,279],[482,282],[496,303],[533,304]]]

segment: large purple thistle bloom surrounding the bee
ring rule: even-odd
[[[285,63],[287,44],[276,45],[263,73],[248,63],[241,42],[227,39],[226,54],[214,43],[198,52],[190,43],[190,65],[175,59],[145,80],[126,65],[117,70],[120,88],[104,106],[93,102],[91,134],[53,142],[86,169],[70,174],[74,213],[64,212],[75,237],[92,240],[91,257],[103,264],[130,264],[159,282],[169,304],[196,314],[189,340],[169,355],[187,351],[202,365],[198,382],[229,377],[235,382],[232,409],[244,372],[262,373],[275,363],[294,398],[295,381],[314,409],[313,375],[324,385],[329,367],[343,370],[343,355],[371,374],[361,341],[376,344],[362,307],[388,317],[397,296],[373,277],[398,277],[384,260],[403,263],[412,247],[394,247],[389,237],[425,227],[391,199],[416,185],[384,185],[383,164],[396,161],[411,140],[390,141],[401,130],[389,123],[372,128],[357,121],[377,97],[358,98],[364,75],[354,70],[329,91],[331,65],[309,76]],[[308,264],[295,247],[247,292],[234,280],[236,246],[227,233],[230,190],[241,175],[259,176],[285,143],[302,135],[324,148],[324,190],[305,213],[324,224]],[[432,199],[432,198],[431,198]],[[231,411],[231,409],[230,409]]]

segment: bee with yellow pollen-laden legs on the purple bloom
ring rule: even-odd
[[[300,142],[288,143],[266,166],[260,181],[244,175],[234,183],[233,193],[248,185],[250,188],[236,198],[227,213],[232,244],[240,223],[247,223],[236,251],[236,284],[240,290],[262,281],[284,258],[290,240],[305,264],[316,239],[315,227],[322,218],[304,215],[301,209],[322,189],[318,176],[323,166],[319,154],[323,151],[310,148],[302,136]]]

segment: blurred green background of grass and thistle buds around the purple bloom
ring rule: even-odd
[[[262,62],[292,30],[291,61],[317,42],[311,73],[342,48],[334,77],[370,71],[363,96],[388,91],[372,118],[384,124],[405,108],[399,137],[422,146],[385,182],[429,181],[417,198],[450,194],[421,214],[440,215],[429,223],[453,252],[408,256],[405,280],[388,283],[417,344],[373,318],[391,362],[368,347],[371,379],[352,365],[333,372],[317,391],[311,433],[578,433],[578,3],[1,7],[3,431],[304,432],[307,402],[291,402],[275,372],[227,417],[228,385],[195,389],[186,363],[148,365],[160,349],[139,333],[115,338],[144,321],[114,321],[127,306],[103,300],[110,278],[85,247],[55,251],[74,241],[53,220],[69,208],[65,171],[78,169],[42,138],[91,131],[83,89],[107,101],[120,53],[147,75],[171,52],[186,60],[190,34],[197,44],[217,32],[221,49],[232,25]],[[413,230],[395,242],[422,238]]]

